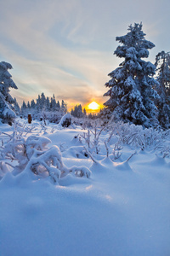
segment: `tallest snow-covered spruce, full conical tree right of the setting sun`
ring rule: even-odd
[[[111,80],[105,84],[110,89],[104,96],[110,96],[105,102],[106,110],[110,110],[116,121],[130,122],[144,127],[158,125],[158,109],[156,101],[159,96],[153,86],[156,67],[147,58],[149,50],[155,45],[144,39],[142,23],[130,25],[127,35],[116,37],[121,43],[114,54],[124,61],[109,73]]]

